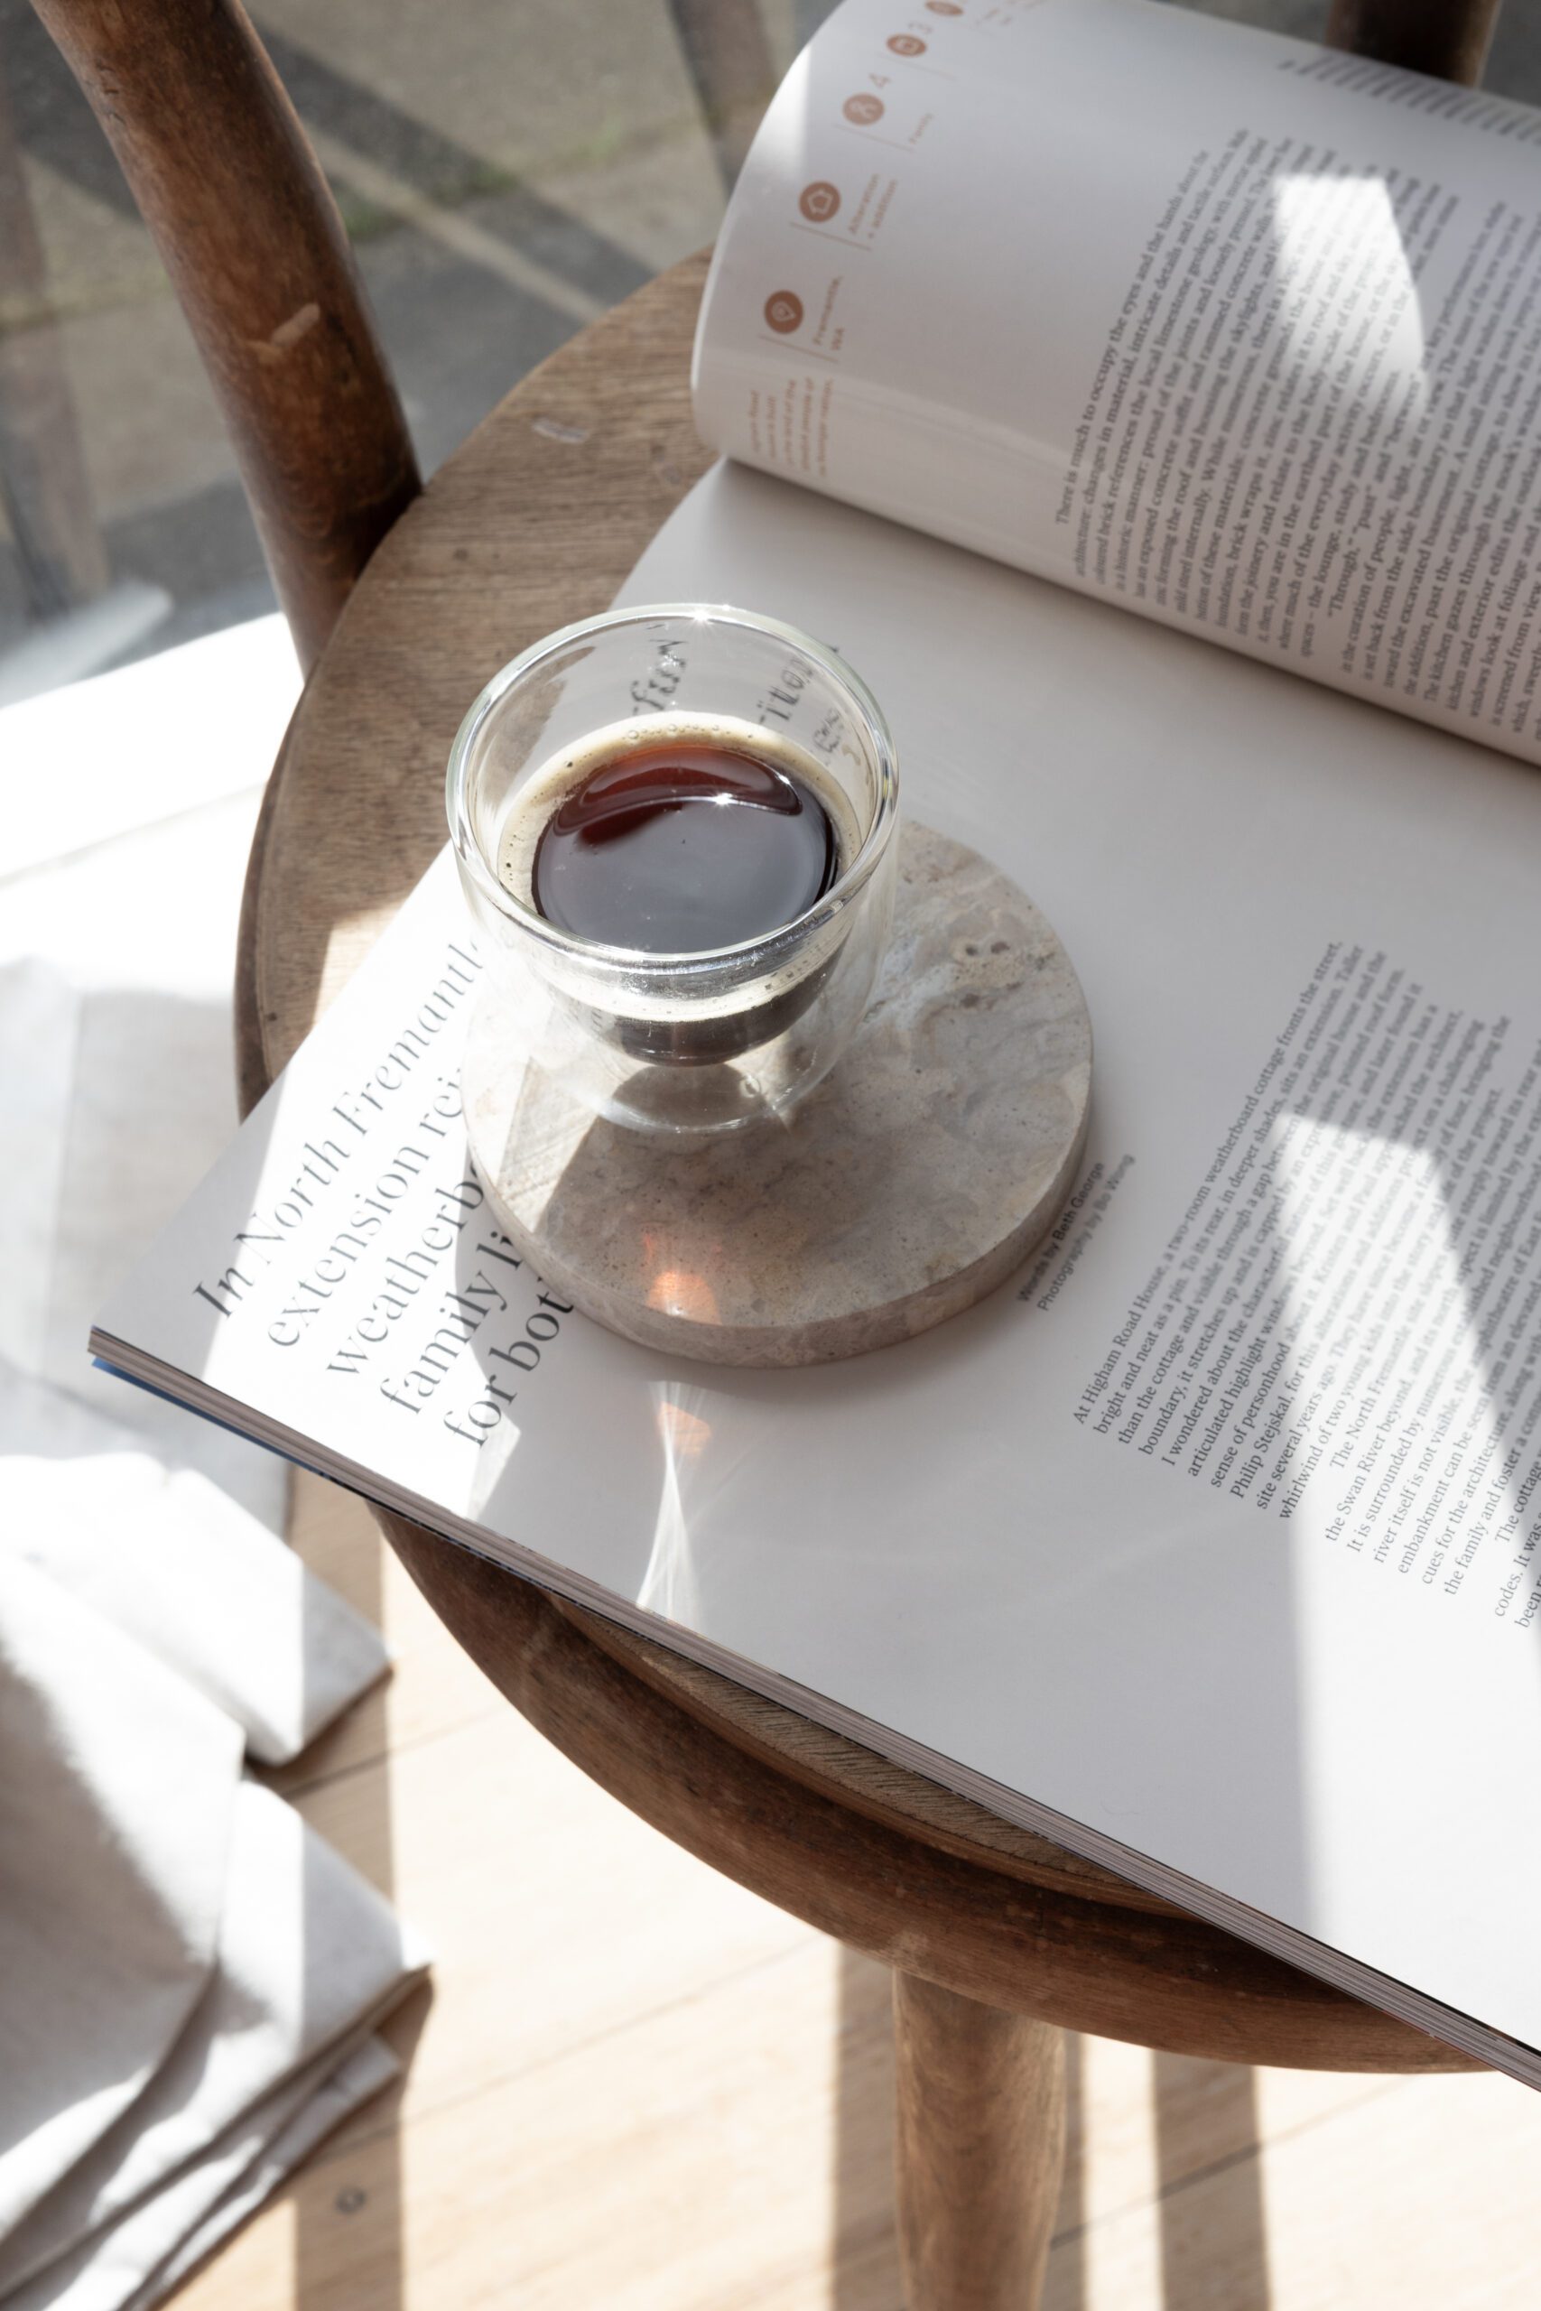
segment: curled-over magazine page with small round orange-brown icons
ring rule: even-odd
[[[846,0],[695,349],[714,448],[1527,760],[1541,116],[1148,0]]]

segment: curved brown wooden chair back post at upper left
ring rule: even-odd
[[[35,0],[219,395],[305,670],[418,467],[342,217],[240,0]]]

